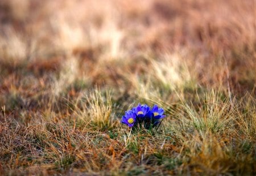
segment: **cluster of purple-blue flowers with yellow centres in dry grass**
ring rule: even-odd
[[[164,115],[164,109],[154,105],[152,108],[148,105],[138,104],[137,107],[127,110],[123,115],[121,122],[129,127],[137,127],[138,125],[146,129],[157,126]]]

